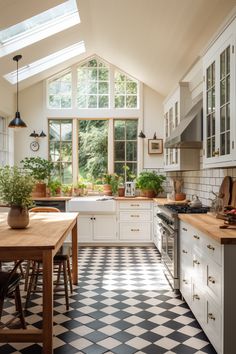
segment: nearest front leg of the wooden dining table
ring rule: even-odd
[[[53,353],[53,256],[43,252],[43,354]]]

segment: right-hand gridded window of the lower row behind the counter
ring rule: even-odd
[[[114,120],[114,171],[126,180],[137,174],[137,129],[137,119]]]

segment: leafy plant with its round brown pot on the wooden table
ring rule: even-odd
[[[19,167],[0,168],[0,200],[10,207],[7,222],[13,229],[23,229],[29,224],[28,207],[33,204],[34,184],[33,177]]]

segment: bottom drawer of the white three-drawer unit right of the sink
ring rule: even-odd
[[[120,223],[120,239],[124,241],[151,241],[150,223]]]

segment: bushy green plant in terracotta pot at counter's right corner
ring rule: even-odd
[[[158,175],[155,171],[143,171],[137,179],[137,187],[142,191],[143,197],[154,198],[163,191],[162,183],[166,177]]]

